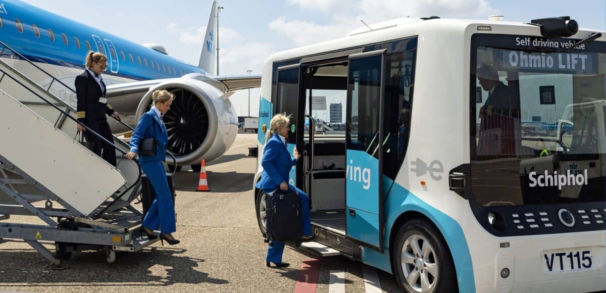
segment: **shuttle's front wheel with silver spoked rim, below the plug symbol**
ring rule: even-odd
[[[407,242],[408,240],[408,242]],[[414,255],[415,250],[411,243],[416,240],[418,246],[416,246],[416,251],[419,251],[419,248],[422,248],[425,245],[425,241],[428,241],[428,253],[425,256],[422,255]],[[424,293],[439,293],[439,292],[459,292],[458,283],[456,278],[456,271],[454,269],[453,258],[448,250],[448,246],[446,245],[446,241],[442,234],[438,230],[436,226],[424,219],[413,219],[407,221],[396,236],[396,240],[394,243],[394,251],[392,263],[393,263],[393,271],[398,279],[398,283],[405,292],[424,292]],[[406,244],[405,250],[407,254],[412,258],[408,258],[413,260],[413,264],[402,264],[402,248]],[[407,268],[407,272],[404,272],[404,266]],[[437,269],[431,269],[435,268]],[[421,268],[421,269],[419,269]],[[436,275],[432,274],[432,271],[437,272]],[[407,279],[406,275],[416,274],[419,272],[419,277],[414,278],[415,283],[411,286]],[[428,280],[431,286],[425,291],[422,291],[421,288],[417,288],[417,286],[421,287],[422,278]]]

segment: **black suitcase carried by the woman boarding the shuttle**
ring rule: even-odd
[[[291,190],[265,195],[267,241],[298,241],[302,234],[301,198]],[[271,243],[271,242],[270,242]]]

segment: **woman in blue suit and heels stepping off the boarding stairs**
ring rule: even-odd
[[[151,94],[151,98],[153,99],[153,107],[141,116],[135,132],[130,137],[130,152],[126,154],[126,157],[130,160],[139,158],[141,169],[149,178],[156,192],[156,198],[143,219],[141,235],[145,233],[149,239],[156,239],[158,237],[153,234],[153,231],[160,226],[162,244],[166,240],[168,244],[175,245],[179,243],[179,240],[171,235],[176,231],[175,204],[173,204],[173,198],[170,189],[168,189],[164,164],[162,164],[165,158],[166,144],[168,143],[168,133],[162,118],[170,109],[175,97],[167,90],[156,90]],[[155,155],[138,155],[139,141],[142,138],[156,138],[158,143],[156,144]]]

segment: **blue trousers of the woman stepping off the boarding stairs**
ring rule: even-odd
[[[156,192],[156,198],[143,219],[143,226],[152,230],[158,230],[158,226],[160,226],[162,234],[177,231],[175,227],[175,204],[170,189],[168,189],[164,164],[161,161],[148,161],[141,163],[141,169],[147,175],[153,190]]]

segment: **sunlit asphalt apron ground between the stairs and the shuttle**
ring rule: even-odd
[[[74,252],[64,271],[53,271],[28,244],[0,243],[0,291],[313,292],[315,287],[315,292],[343,292],[341,288],[400,292],[393,275],[345,257],[318,258],[291,246],[283,258],[291,263],[289,268],[267,268],[267,244],[259,232],[253,199],[256,158],[247,157],[248,147],[254,146],[256,135],[241,133],[223,157],[207,164],[210,192],[194,191],[199,173],[189,169],[176,173],[174,235],[180,244],[158,242],[141,252],[121,252],[111,264],[102,251]],[[41,223],[34,217],[11,217],[1,223],[7,222]],[[52,243],[47,248],[54,252]],[[299,275],[307,272],[301,266],[312,258],[318,258],[317,281],[301,287]]]

